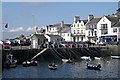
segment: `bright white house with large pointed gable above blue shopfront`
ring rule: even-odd
[[[98,22],[99,42],[116,42],[119,39],[119,17],[103,16]]]

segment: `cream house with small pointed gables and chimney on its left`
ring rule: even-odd
[[[86,23],[87,20],[80,20],[79,16],[74,17],[74,22],[71,27],[72,41],[74,42],[86,41],[86,36],[85,36]]]

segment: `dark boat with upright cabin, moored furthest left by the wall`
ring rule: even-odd
[[[17,59],[13,57],[13,54],[6,55],[6,62],[4,64],[5,68],[15,68],[17,67]]]

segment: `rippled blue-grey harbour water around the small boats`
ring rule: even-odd
[[[104,58],[92,61],[75,61],[74,63],[63,63],[54,61],[58,69],[53,71],[48,69],[48,64],[53,61],[40,61],[38,66],[4,69],[3,78],[119,78],[120,60]],[[86,63],[101,63],[102,70],[88,70]]]

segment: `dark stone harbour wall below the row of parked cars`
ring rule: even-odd
[[[113,50],[112,50],[113,49]],[[43,49],[24,49],[24,50],[3,50],[2,61],[6,60],[7,53],[12,53],[17,58],[18,63],[22,63],[26,59],[31,59]],[[108,47],[87,47],[87,48],[48,48],[41,55],[36,57],[37,60],[49,60],[49,59],[63,59],[63,58],[75,58],[80,59],[81,56],[92,57],[105,57],[114,55],[114,48]],[[117,52],[118,49],[116,49]],[[112,51],[112,52],[111,52]]]

